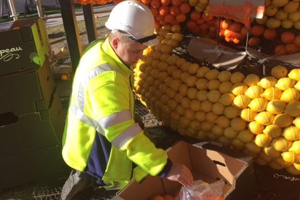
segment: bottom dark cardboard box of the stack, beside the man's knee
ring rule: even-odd
[[[0,159],[0,189],[32,181],[57,180],[68,172],[61,146],[49,146]]]

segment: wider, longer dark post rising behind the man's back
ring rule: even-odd
[[[80,55],[82,53],[75,8],[73,0],[59,0],[59,4],[66,41],[70,52],[72,68],[73,72],[75,72],[75,69],[79,63]]]

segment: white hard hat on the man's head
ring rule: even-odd
[[[154,17],[151,10],[138,1],[125,0],[115,5],[105,26],[110,30],[126,32],[131,39],[146,46],[153,46],[159,42],[153,34]]]

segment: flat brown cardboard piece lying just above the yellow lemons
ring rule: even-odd
[[[215,67],[235,68],[242,62],[246,53],[238,51],[216,41],[207,38],[192,38],[187,46],[188,54],[199,59],[206,60]]]

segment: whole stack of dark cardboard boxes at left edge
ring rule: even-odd
[[[0,32],[0,188],[65,175],[65,114],[50,73],[41,18]]]

